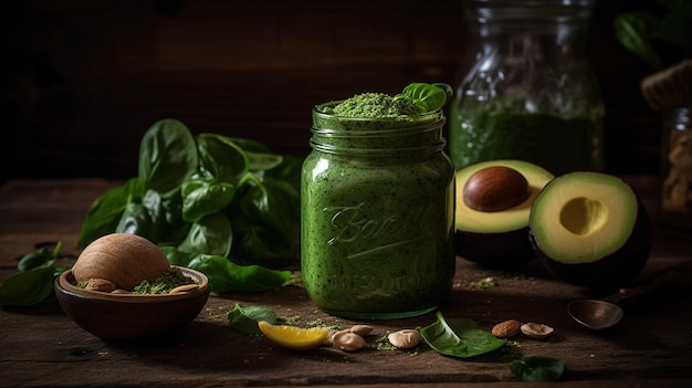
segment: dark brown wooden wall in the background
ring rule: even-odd
[[[598,0],[588,42],[606,104],[606,169],[659,170],[650,69],[612,19],[651,1]],[[2,6],[0,182],[136,175],[139,140],[174,117],[192,133],[304,156],[319,102],[408,83],[455,84],[461,0],[24,0]],[[556,128],[557,129],[557,128]]]

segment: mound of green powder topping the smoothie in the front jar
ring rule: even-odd
[[[385,93],[357,94],[324,111],[326,114],[343,117],[399,117],[426,113],[423,107],[405,95],[397,94],[392,97]]]

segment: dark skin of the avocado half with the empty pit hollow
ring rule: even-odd
[[[548,272],[566,283],[589,290],[611,292],[630,285],[647,264],[651,254],[651,220],[641,199],[638,198],[635,228],[622,247],[602,259],[584,264],[564,264],[547,256],[538,247],[532,230],[528,240],[534,254]]]

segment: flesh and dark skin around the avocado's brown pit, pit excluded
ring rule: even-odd
[[[530,195],[522,203],[503,211],[483,212],[469,208],[463,187],[476,171],[505,166],[520,171],[528,181]],[[528,234],[533,201],[553,175],[534,164],[500,159],[482,161],[457,171],[457,254],[489,269],[513,269],[535,259]]]

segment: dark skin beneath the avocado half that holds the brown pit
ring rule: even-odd
[[[514,270],[535,259],[528,228],[503,233],[457,231],[457,254],[490,270]]]

